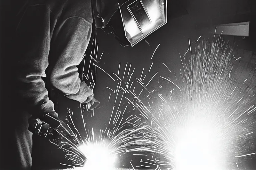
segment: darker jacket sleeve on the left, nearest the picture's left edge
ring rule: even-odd
[[[49,64],[51,17],[45,6],[29,6],[16,28],[16,90],[22,99],[18,102],[23,103],[30,114],[54,110],[42,80]]]

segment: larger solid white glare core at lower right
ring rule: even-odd
[[[196,121],[179,131],[176,170],[222,170],[218,130],[205,121]]]

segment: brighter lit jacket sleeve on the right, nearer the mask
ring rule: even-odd
[[[56,29],[49,57],[51,84],[69,99],[83,103],[93,91],[81,82],[77,65],[82,61],[92,33],[92,23],[80,17],[69,17]]]

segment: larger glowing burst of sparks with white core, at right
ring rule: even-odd
[[[145,151],[163,155],[151,162],[176,170],[219,170],[226,169],[227,162],[237,165],[235,157],[239,155],[253,155],[255,98],[232,81],[232,62],[236,59],[231,53],[232,48],[221,38],[196,42],[189,61],[180,57],[183,71],[179,86],[160,76],[171,83],[170,87],[178,88],[178,95],[173,91],[167,97],[158,93],[159,106],[142,103],[153,97],[142,75],[137,82],[149,92],[147,99],[138,98],[135,87],[127,89],[133,96],[131,100],[127,98],[128,103],[148,120],[141,124],[148,130],[142,131],[144,138],[152,141],[145,145]]]

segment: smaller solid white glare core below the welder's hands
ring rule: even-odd
[[[114,170],[116,156],[110,154],[107,146],[95,143],[87,144],[79,147],[82,153],[86,156],[84,167],[80,170]]]

